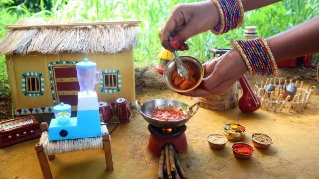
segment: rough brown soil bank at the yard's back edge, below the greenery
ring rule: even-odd
[[[265,76],[246,75],[249,83],[253,87],[255,84],[259,85],[261,82],[266,82]],[[279,68],[278,79],[303,81],[305,85],[312,88],[319,88],[317,83],[317,72],[314,68],[305,68],[296,66],[294,68]],[[278,83],[278,81],[277,81]],[[160,73],[155,71],[154,67],[136,68],[135,69],[135,86],[136,95],[143,93],[145,88],[162,88],[167,89],[163,77]],[[241,87],[238,86],[240,89]],[[318,90],[316,90],[318,91]],[[0,121],[12,118],[11,96],[0,96]],[[16,116],[14,116],[16,117]]]

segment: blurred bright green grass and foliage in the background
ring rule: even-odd
[[[195,1],[198,0],[1,0],[0,40],[8,32],[4,26],[14,24],[20,18],[41,17],[60,21],[141,20],[135,66],[153,66],[158,63],[156,56],[161,49],[159,28],[171,9],[175,4]],[[210,48],[230,48],[230,38],[242,38],[245,26],[257,26],[258,35],[269,37],[317,16],[318,12],[318,0],[280,1],[245,12],[244,24],[239,29],[218,36],[207,31],[190,38],[187,42],[190,50],[179,52],[179,55],[192,55],[205,62],[212,57]],[[0,56],[0,84],[3,84],[0,85],[0,95],[7,93],[4,56]]]

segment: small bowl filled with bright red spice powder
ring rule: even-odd
[[[233,154],[237,159],[247,160],[249,159],[253,153],[255,152],[254,148],[244,142],[235,142],[231,146],[233,150]]]

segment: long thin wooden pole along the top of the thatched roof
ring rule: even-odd
[[[40,27],[70,27],[70,26],[88,26],[88,25],[120,25],[120,24],[140,24],[140,20],[132,21],[113,21],[113,22],[83,22],[83,23],[61,23],[61,24],[29,24],[29,25],[6,25],[5,29],[25,29]]]

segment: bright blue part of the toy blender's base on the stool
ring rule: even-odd
[[[78,111],[78,117],[71,117],[67,124],[59,124],[56,118],[49,126],[49,141],[101,137],[99,110]]]

